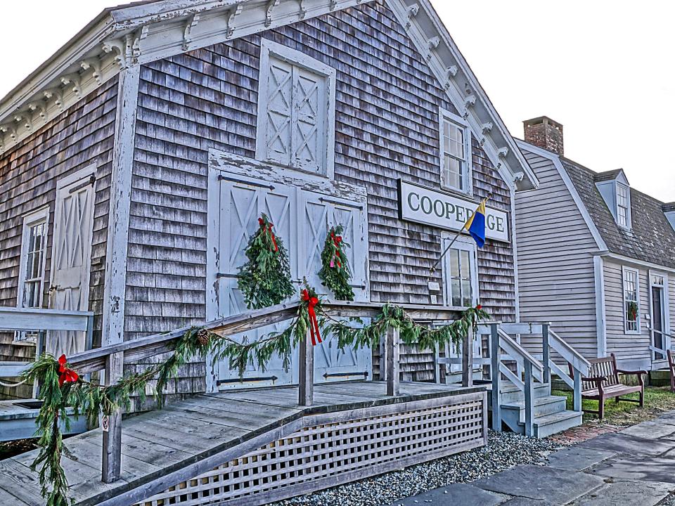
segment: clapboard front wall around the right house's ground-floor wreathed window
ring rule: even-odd
[[[622,265],[605,259],[605,311],[607,314],[607,353],[615,353],[619,367],[650,369],[650,335],[645,325],[649,309],[649,280],[645,269],[638,270],[640,300],[640,334],[624,330],[624,296]]]

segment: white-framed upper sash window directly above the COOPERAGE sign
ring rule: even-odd
[[[471,134],[458,115],[439,108],[441,186],[463,193],[471,189]]]

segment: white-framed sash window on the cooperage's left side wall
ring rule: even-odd
[[[44,293],[44,266],[47,250],[49,208],[23,218],[17,307],[39,308]],[[34,332],[16,332],[15,341],[34,342]]]

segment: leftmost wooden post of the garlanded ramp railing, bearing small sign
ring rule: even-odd
[[[105,384],[112,385],[124,375],[124,352],[118,351],[105,358]],[[113,483],[122,473],[122,409],[103,417],[103,458],[101,481]]]

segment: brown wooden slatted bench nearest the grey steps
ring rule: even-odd
[[[635,402],[642,408],[645,405],[645,380],[643,375],[647,371],[627,371],[617,368],[617,358],[614,353],[605,358],[593,358],[589,360],[591,370],[589,377],[581,378],[581,398],[588,398],[598,401],[598,410],[584,410],[589,413],[597,413],[600,420],[603,419],[605,412],[605,399],[615,398],[617,402]],[[570,368],[572,366],[570,365]],[[622,383],[619,375],[635,375],[638,377],[638,385],[631,386]],[[639,399],[624,398],[622,395],[638,392]]]

